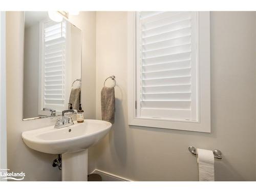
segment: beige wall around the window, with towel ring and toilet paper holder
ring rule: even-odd
[[[127,125],[127,12],[96,15],[96,117],[116,75],[116,121],[91,149],[96,168],[132,180],[197,181],[187,148],[217,148],[217,181],[255,180],[255,13],[211,12],[211,133]]]

